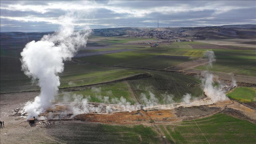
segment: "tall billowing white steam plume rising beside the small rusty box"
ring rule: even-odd
[[[60,86],[58,73],[64,70],[63,61],[71,60],[78,48],[86,45],[91,33],[89,27],[74,31],[72,15],[61,16],[60,20],[58,32],[44,35],[40,41],[29,42],[21,52],[22,70],[33,80],[38,80],[41,88],[40,95],[24,107],[28,119],[37,117],[51,105]]]

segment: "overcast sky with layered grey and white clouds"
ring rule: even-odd
[[[256,24],[256,1],[2,1],[1,32],[56,31],[72,12],[77,30]]]

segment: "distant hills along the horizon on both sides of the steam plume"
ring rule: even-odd
[[[94,29],[96,36],[132,36],[157,39],[189,38],[204,39],[247,39],[256,38],[256,25],[223,25],[212,27],[181,27],[181,28],[101,28]],[[29,41],[39,40],[45,34],[53,32],[1,32],[1,46],[12,44],[25,45]],[[1,47],[2,48],[2,47]]]

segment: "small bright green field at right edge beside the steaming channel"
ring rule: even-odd
[[[237,87],[232,92],[229,92],[227,96],[244,103],[256,101],[256,88]]]

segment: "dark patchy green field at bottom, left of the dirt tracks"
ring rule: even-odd
[[[63,129],[66,129],[63,131]],[[118,126],[93,123],[61,124],[49,129],[49,135],[65,143],[160,143],[153,127]],[[62,133],[60,135],[59,133]],[[76,135],[73,135],[76,134]]]

